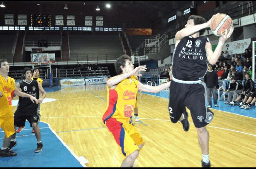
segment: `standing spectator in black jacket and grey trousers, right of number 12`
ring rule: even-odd
[[[208,107],[212,107],[212,99],[213,96],[213,103],[215,107],[218,107],[217,104],[217,88],[218,88],[218,75],[217,72],[212,70],[212,65],[208,65],[208,71],[204,76],[204,83],[206,83],[206,90],[207,90],[207,99],[208,99]]]

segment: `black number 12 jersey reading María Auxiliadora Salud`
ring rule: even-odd
[[[207,37],[192,36],[180,40],[172,57],[172,76],[179,80],[195,81],[208,70],[205,44]]]

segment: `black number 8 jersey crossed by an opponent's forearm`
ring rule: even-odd
[[[22,89],[22,92],[34,96],[36,99],[39,99],[39,88],[38,82],[36,80],[31,80],[30,82],[23,80],[20,82],[20,88]],[[30,98],[19,97],[19,103],[16,112],[22,113],[24,115],[33,115],[38,113],[38,107],[39,104],[33,103]]]

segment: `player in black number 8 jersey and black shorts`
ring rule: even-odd
[[[16,126],[25,126],[25,121],[27,119],[30,123],[30,127],[35,129],[37,139],[37,148],[35,152],[40,152],[43,150],[43,143],[41,141],[40,129],[38,127],[38,122],[40,120],[39,104],[43,102],[46,92],[38,81],[31,78],[32,70],[30,68],[25,68],[23,74],[26,78],[17,85],[17,88],[21,88],[22,92],[34,96],[39,101],[37,105],[27,98],[19,97],[17,110],[14,113],[14,128],[16,128]],[[39,99],[39,91],[43,93],[41,99]],[[17,145],[15,136],[16,133],[11,136],[11,142],[8,146],[9,150],[11,150],[13,146]]]

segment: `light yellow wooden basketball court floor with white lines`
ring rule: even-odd
[[[119,167],[123,161],[102,122],[106,96],[106,85],[68,87],[47,93],[46,98],[57,100],[40,106],[41,121],[49,123],[77,156],[84,156],[88,167]],[[181,123],[170,121],[167,105],[168,99],[148,94],[138,99],[140,122],[134,125],[146,144],[136,167],[201,167],[202,155],[190,114],[190,129],[184,132]],[[207,127],[212,167],[254,167],[256,119],[213,112]]]

